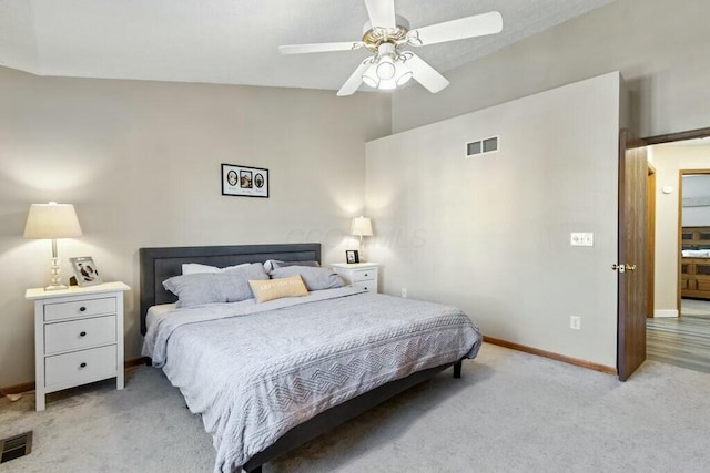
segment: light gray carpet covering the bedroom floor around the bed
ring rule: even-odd
[[[0,434],[34,430],[1,472],[209,472],[199,417],[160,370],[0,401]],[[450,370],[266,464],[264,472],[707,472],[710,374],[647,361],[615,377],[484,345]]]

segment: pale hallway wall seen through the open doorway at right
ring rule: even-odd
[[[710,146],[652,146],[656,167],[656,273],[653,309],[657,317],[678,315],[678,207],[681,169],[710,169]],[[672,187],[663,194],[663,187]]]

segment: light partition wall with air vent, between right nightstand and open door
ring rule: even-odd
[[[385,292],[406,287],[489,337],[616,367],[620,86],[610,73],[367,143]],[[498,153],[464,157],[494,135]],[[595,246],[570,247],[570,232],[594,232]]]

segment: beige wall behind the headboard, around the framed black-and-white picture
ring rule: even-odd
[[[93,256],[126,295],[126,358],[140,356],[138,249],[320,241],[343,260],[364,206],[365,142],[390,132],[383,94],[38,78],[0,68],[0,387],[31,382],[29,287],[50,243],[22,238],[32,203],[72,203]],[[220,164],[270,169],[271,197],[221,195]]]

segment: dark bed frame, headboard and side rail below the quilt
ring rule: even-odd
[[[284,261],[321,263],[320,244],[197,246],[141,248],[141,333],[145,335],[145,316],[151,306],[174,302],[176,297],[163,288],[163,280],[182,274],[183,263],[212,266],[231,266],[241,263],[264,263],[267,259]],[[359,415],[387,399],[424,382],[440,371],[454,367],[454,378],[460,378],[462,360],[418,371],[396,381],[335,405],[307,422],[286,432],[276,443],[254,455],[244,470],[261,473],[262,465],[306,442],[331,431],[335,426]]]

